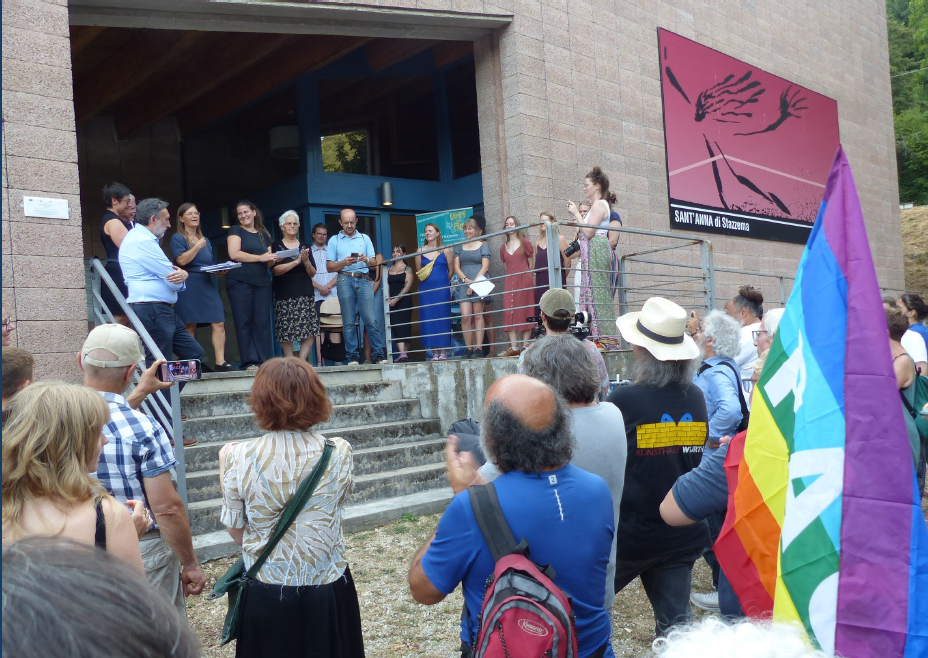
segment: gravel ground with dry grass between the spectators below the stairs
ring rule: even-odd
[[[460,588],[440,604],[419,605],[409,595],[409,561],[435,530],[439,517],[404,517],[401,521],[346,537],[348,560],[361,603],[364,648],[369,658],[404,656],[459,656]],[[209,591],[234,560],[203,565]],[[694,591],[707,592],[709,568],[696,564]],[[231,658],[234,644],[219,646],[226,601],[205,597],[187,600],[190,625],[203,643],[204,658]],[[636,580],[616,597],[613,610],[613,647],[617,656],[644,658],[654,639],[654,615],[641,582]]]

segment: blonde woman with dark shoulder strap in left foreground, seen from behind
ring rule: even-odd
[[[95,545],[142,569],[126,506],[89,475],[106,444],[109,407],[99,393],[39,382],[10,404],[3,427],[3,545],[61,535]]]

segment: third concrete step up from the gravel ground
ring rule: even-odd
[[[355,480],[361,475],[380,475],[404,467],[434,465],[440,462],[444,439],[433,437],[423,441],[410,441],[390,446],[375,446],[354,451]],[[383,485],[380,485],[383,488]],[[358,487],[355,486],[355,491]],[[219,468],[188,471],[187,499],[190,502],[219,498]]]

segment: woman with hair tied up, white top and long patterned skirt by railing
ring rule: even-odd
[[[583,180],[583,195],[590,202],[590,211],[584,217],[573,201],[567,210],[580,224],[581,241],[589,241],[589,268],[580,275],[580,310],[590,313],[590,335],[615,335],[615,309],[612,306],[609,256],[609,218],[615,194],[609,191],[609,177],[599,167]]]

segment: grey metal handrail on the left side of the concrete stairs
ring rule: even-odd
[[[99,258],[90,259],[90,276],[94,324],[99,326],[101,324],[116,323],[113,309],[110,309],[106,305],[103,301],[103,296],[100,294],[101,286],[105,285],[119,304],[116,315],[125,315],[129,318],[132,328],[142,338],[145,347],[148,348],[148,351],[151,352],[155,360],[166,358],[161,353],[161,350],[158,349],[155,341],[152,340],[148,330],[145,329],[145,326],[132,310],[132,307],[129,306],[126,298],[113,282],[112,277],[110,277],[109,272],[106,271],[106,268]],[[138,365],[142,370],[148,367],[144,361],[139,361]],[[138,381],[139,372],[136,370],[132,375],[131,388],[135,388]],[[180,391],[177,386],[172,386],[167,389],[167,391],[168,396],[165,396],[164,391],[156,391],[149,395],[148,398],[142,402],[141,409],[148,416],[152,417],[155,422],[161,425],[171,440],[174,441],[174,456],[177,459],[177,493],[180,495],[181,500],[184,501],[184,507],[187,507],[187,469],[184,461],[184,432],[180,411]],[[169,413],[166,413],[166,411],[169,411]]]

